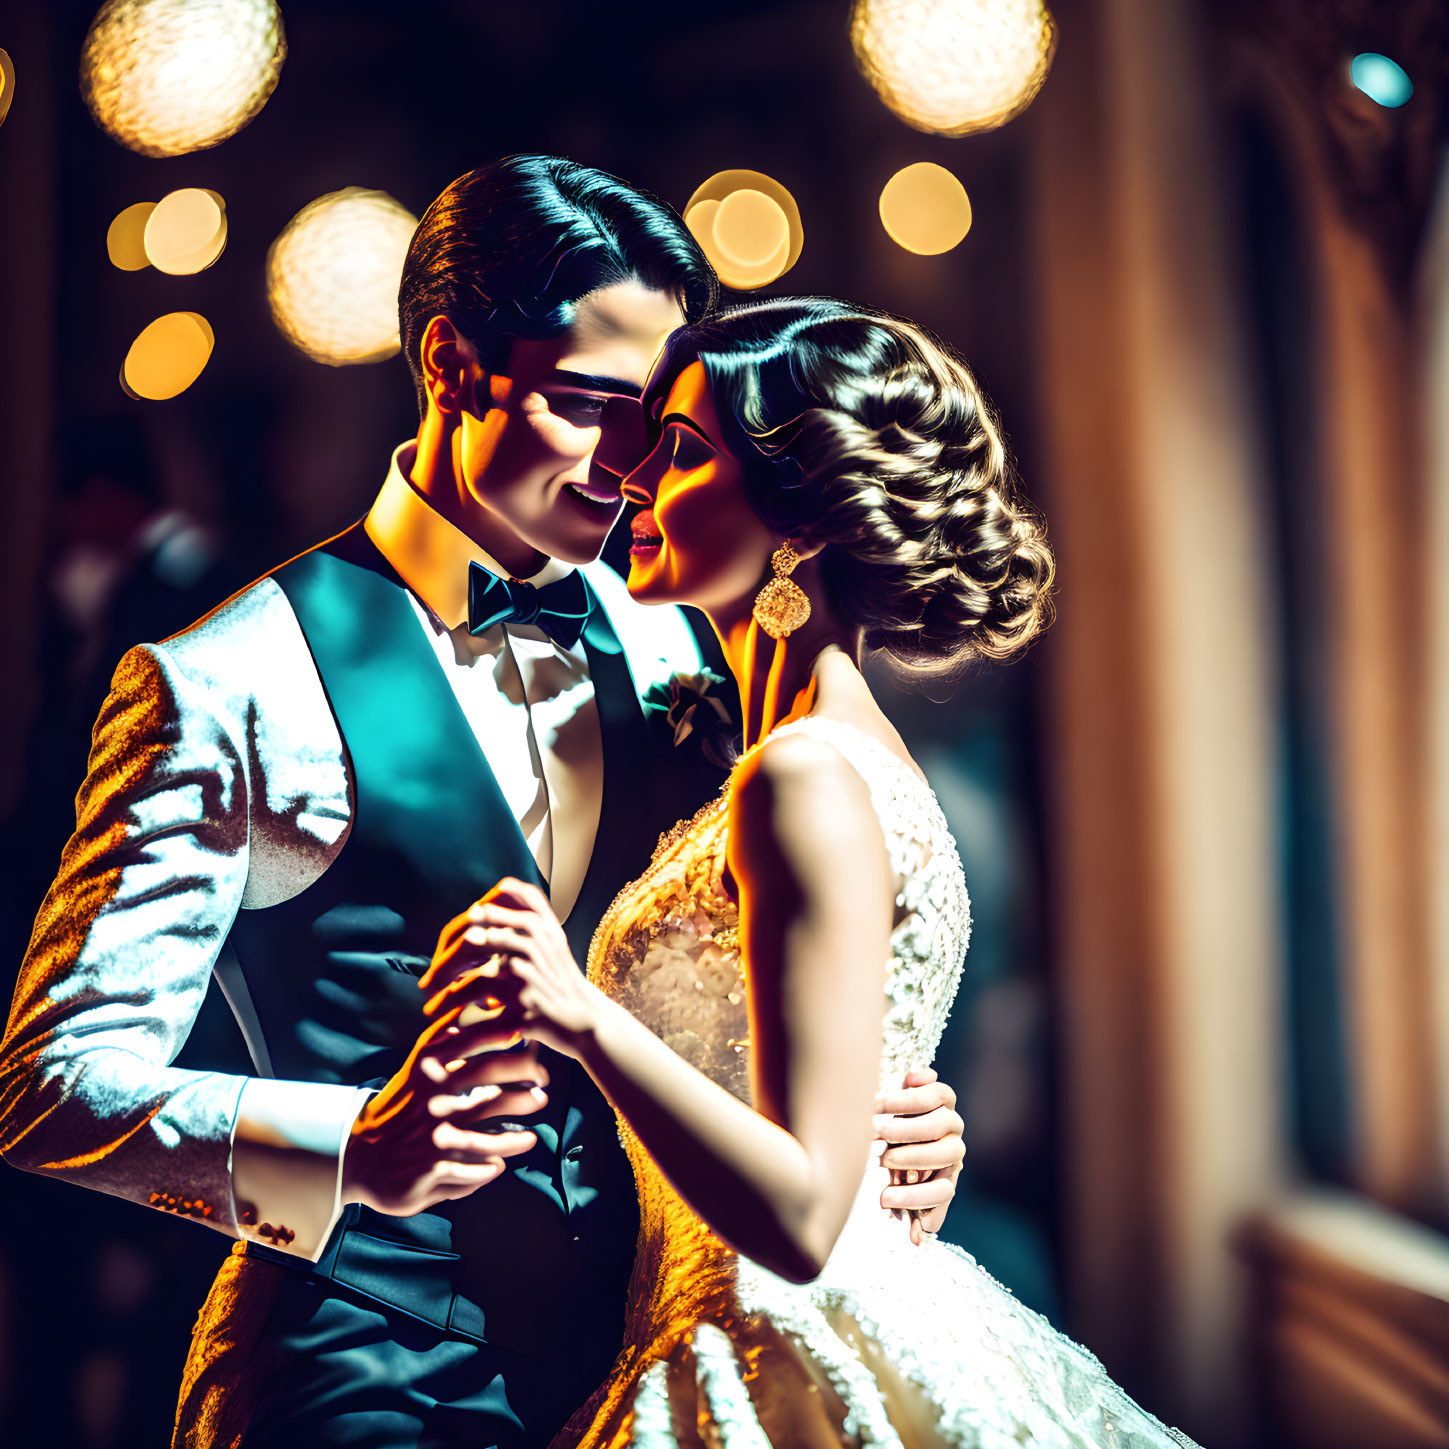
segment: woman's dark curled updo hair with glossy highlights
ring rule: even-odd
[[[897,672],[1009,659],[1051,620],[1055,564],[966,365],[911,322],[829,298],[751,303],[681,327],[645,397],[703,362],[749,500],[823,543],[840,616]]]

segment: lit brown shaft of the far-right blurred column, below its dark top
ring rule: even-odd
[[[1304,138],[1307,139],[1307,138]],[[1371,236],[1306,167],[1320,242],[1324,493],[1333,539],[1349,1024],[1358,1185],[1424,1211],[1439,1195],[1427,1030],[1424,498],[1407,307]]]

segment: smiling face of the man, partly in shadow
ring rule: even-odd
[[[475,504],[472,532],[500,562],[520,545],[569,564],[598,556],[623,507],[619,474],[638,461],[639,393],[682,323],[668,293],[613,283],[580,298],[561,336],[516,339],[506,377],[480,377],[454,467]]]

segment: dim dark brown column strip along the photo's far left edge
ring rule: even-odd
[[[4,7],[0,45],[14,101],[0,125],[0,819],[20,787],[35,698],[35,598],[45,522],[55,332],[55,143],[51,16],[43,0]]]

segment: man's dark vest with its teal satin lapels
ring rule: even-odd
[[[417,977],[442,926],[501,877],[543,884],[517,822],[429,648],[401,581],[361,525],[272,578],[287,594],[342,736],[354,782],[341,853],[300,895],[243,910],[232,929],[281,1080],[380,1085],[426,1024]],[[575,958],[661,830],[720,775],[651,742],[603,607],[584,630],[598,703],[604,790],[593,859],[565,922]],[[571,1059],[543,1052],[538,1146],[471,1197],[390,1217],[343,1211],[316,1265],[330,1278],[461,1337],[533,1358],[617,1352],[638,1235],[633,1177],[613,1111]]]

